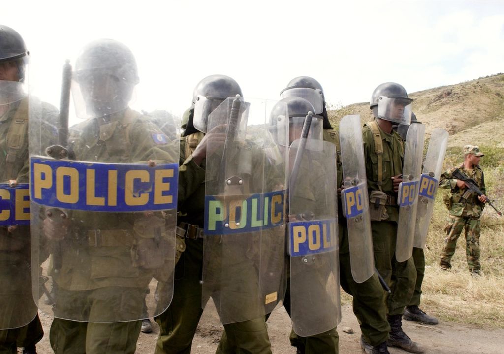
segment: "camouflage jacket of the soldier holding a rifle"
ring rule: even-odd
[[[473,179],[481,192],[486,194],[485,179],[481,167],[474,166],[473,169],[468,170],[464,168],[464,164],[461,164],[458,167],[447,170],[439,179],[439,188],[450,189],[450,199],[446,201],[450,215],[479,218],[485,204],[479,201],[476,193],[466,193],[467,188],[461,189],[457,187],[457,180],[452,176],[452,173],[456,169],[460,169],[469,178]]]

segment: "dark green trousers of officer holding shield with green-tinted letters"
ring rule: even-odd
[[[203,240],[186,239],[185,251],[175,267],[173,299],[168,309],[155,318],[160,333],[155,354],[191,353],[202,309]],[[246,304],[243,304],[246,306]],[[224,325],[218,353],[271,353],[263,317]]]

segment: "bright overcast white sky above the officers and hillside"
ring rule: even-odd
[[[98,38],[136,55],[137,107],[176,114],[211,74],[269,99],[312,76],[329,103],[346,105],[386,81],[414,92],[504,72],[504,2],[342,3],[28,0],[3,6],[2,24],[24,37],[30,84],[56,106],[65,58]]]

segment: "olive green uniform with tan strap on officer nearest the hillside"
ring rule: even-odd
[[[378,190],[387,195],[381,220],[374,221],[371,218],[374,263],[377,271],[380,272],[391,289],[391,294],[386,300],[387,315],[402,315],[405,306],[409,305],[413,296],[416,281],[413,258],[400,263],[397,262],[395,256],[399,207],[397,206],[397,192],[394,192],[391,178],[402,174],[404,145],[396,132],[387,134],[379,126],[378,129],[383,145],[382,181],[379,181],[379,157],[374,146],[373,133],[367,125],[364,125],[362,129],[369,195],[371,191]],[[370,208],[374,207],[372,202],[369,204]]]

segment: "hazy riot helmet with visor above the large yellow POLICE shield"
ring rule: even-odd
[[[139,83],[133,52],[112,39],[88,43],[77,57],[72,85],[81,118],[106,116],[128,107]]]

